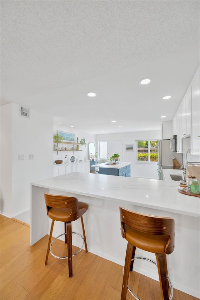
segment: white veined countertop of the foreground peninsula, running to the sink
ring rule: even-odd
[[[182,172],[181,170],[166,171],[166,169],[163,171],[166,178],[168,174]],[[200,216],[200,199],[179,193],[179,182],[174,180],[73,172],[39,180],[32,185],[118,201],[120,205],[128,203],[177,214]]]

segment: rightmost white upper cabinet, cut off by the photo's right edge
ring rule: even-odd
[[[192,154],[200,155],[200,76],[199,68],[191,83],[191,108],[192,108],[192,134],[191,150]]]

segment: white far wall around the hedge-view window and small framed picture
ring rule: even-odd
[[[101,135],[96,135],[96,145],[98,145],[99,141],[122,140],[123,155],[120,154],[120,158],[123,157],[124,162],[131,162],[131,176],[158,179],[156,164],[136,163],[135,141],[136,140],[159,140],[159,139],[161,139],[161,130],[101,134]],[[125,151],[125,145],[128,144],[134,145],[134,152]]]

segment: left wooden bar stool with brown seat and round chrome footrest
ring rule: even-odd
[[[69,268],[69,277],[72,277],[72,257],[78,254],[83,245],[85,243],[85,252],[88,252],[85,229],[83,224],[83,214],[88,210],[88,204],[79,202],[77,198],[68,197],[68,196],[60,196],[60,195],[52,195],[44,193],[44,199],[47,208],[47,215],[50,219],[52,219],[51,230],[49,234],[49,242],[47,248],[47,255],[45,260],[45,265],[47,265],[49,252],[55,257],[59,259],[67,259],[68,258],[68,268]],[[79,233],[72,232],[72,223],[73,221],[81,218],[81,224],[83,228],[83,236]],[[65,233],[59,235],[51,242],[52,233],[53,233],[53,225],[55,221],[64,222]],[[72,234],[78,234],[83,239],[82,247],[74,254],[72,254]],[[60,236],[65,236],[65,243],[68,244],[68,256],[57,256],[52,250],[51,246],[56,239]]]

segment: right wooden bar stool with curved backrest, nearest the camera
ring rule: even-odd
[[[156,264],[147,258],[135,258],[136,247],[155,253],[162,298],[163,300],[172,299],[173,287],[168,278],[166,254],[171,254],[174,250],[174,220],[167,217],[140,214],[122,207],[119,210],[121,234],[123,239],[128,241],[121,300],[126,299],[127,290],[134,298],[139,299],[128,287],[129,272],[133,270],[134,260],[145,259]],[[170,297],[168,296],[169,287],[171,288]]]

